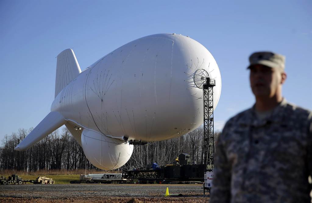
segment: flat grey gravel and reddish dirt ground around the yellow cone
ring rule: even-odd
[[[164,197],[169,194],[183,196]],[[209,202],[202,185],[68,184],[0,185],[1,202]]]

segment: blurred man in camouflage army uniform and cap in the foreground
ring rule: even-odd
[[[311,202],[312,113],[282,97],[284,56],[249,61],[256,103],[219,136],[210,202]]]

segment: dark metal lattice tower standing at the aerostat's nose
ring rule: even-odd
[[[206,78],[206,84],[203,85],[203,103],[204,103],[204,164],[206,171],[214,169],[214,134],[213,134],[213,87],[216,81]]]

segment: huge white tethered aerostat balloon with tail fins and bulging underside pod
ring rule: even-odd
[[[131,41],[81,72],[71,49],[57,56],[51,112],[17,146],[26,150],[63,124],[96,167],[123,166],[133,145],[181,136],[203,123],[202,84],[221,75],[211,53],[178,34]]]

